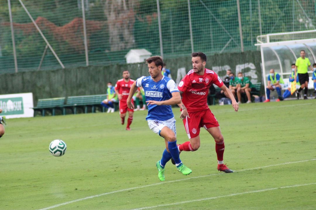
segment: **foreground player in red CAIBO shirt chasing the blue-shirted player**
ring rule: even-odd
[[[202,52],[192,53],[192,66],[187,75],[179,83],[178,89],[182,96],[182,109],[180,118],[183,120],[186,133],[190,141],[178,146],[181,151],[196,151],[200,147],[200,128],[204,127],[215,140],[215,150],[217,154],[217,170],[226,173],[233,172],[223,162],[224,137],[222,136],[219,124],[207,105],[208,90],[215,84],[220,87],[226,96],[232,100],[232,106],[238,111],[232,92],[224,85],[218,75],[210,69],[205,68],[206,55]]]

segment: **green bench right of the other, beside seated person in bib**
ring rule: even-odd
[[[77,108],[81,108],[84,113],[88,113],[88,108],[91,107],[91,112],[95,112],[96,107],[101,107],[101,102],[106,99],[107,94],[90,95],[90,96],[68,96],[66,104],[63,106],[63,114],[66,114],[66,109],[70,108],[73,114],[77,113]],[[104,112],[104,107],[102,107]]]

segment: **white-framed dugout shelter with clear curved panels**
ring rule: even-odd
[[[262,60],[262,75],[266,95],[267,77],[271,68],[279,73],[284,80],[285,87],[289,85],[291,64],[300,57],[300,51],[305,50],[311,65],[316,62],[316,30],[271,33],[257,36],[256,46],[260,47]],[[311,71],[308,68],[311,76]],[[308,88],[313,89],[311,77]]]

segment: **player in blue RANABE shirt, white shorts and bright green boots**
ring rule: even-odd
[[[177,169],[184,175],[192,172],[191,169],[183,165],[179,157],[176,138],[176,120],[171,109],[171,105],[181,103],[181,96],[175,82],[162,75],[163,60],[160,56],[152,56],[146,59],[150,76],[138,78],[133,85],[127,98],[128,108],[134,109],[131,102],[137,87],[143,87],[145,91],[148,115],[146,120],[150,130],[165,139],[166,149],[162,153],[162,158],[156,163],[158,168],[158,178],[165,180],[165,165],[173,158]]]

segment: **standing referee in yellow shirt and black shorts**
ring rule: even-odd
[[[299,57],[296,62],[295,62],[295,80],[296,80],[296,71],[298,73],[298,79],[300,81],[301,87],[300,89],[298,89],[298,91],[296,92],[296,96],[297,99],[299,99],[300,97],[300,92],[301,90],[304,89],[304,99],[308,99],[307,98],[307,91],[308,91],[308,81],[309,81],[309,76],[307,73],[307,69],[308,67],[311,69],[311,71],[313,71],[313,68],[311,66],[311,62],[309,62],[308,58],[305,57],[305,50],[301,50],[300,52],[301,57]]]

